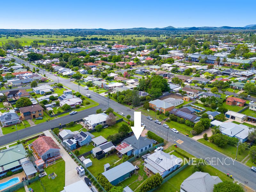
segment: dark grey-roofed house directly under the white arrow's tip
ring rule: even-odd
[[[124,139],[121,143],[127,143],[128,145],[132,146],[132,154],[133,155],[138,155],[142,153],[143,151],[148,150],[149,148],[153,147],[153,142],[146,138],[146,137],[139,137],[137,140],[135,135],[128,137]]]

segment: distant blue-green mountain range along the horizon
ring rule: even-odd
[[[0,34],[15,34],[15,35],[44,35],[44,34],[62,34],[62,35],[160,35],[160,34],[182,34],[195,33],[211,34],[211,33],[229,33],[229,32],[248,32],[256,31],[256,24],[246,25],[244,27],[184,27],[175,28],[172,26],[164,28],[120,28],[120,29],[0,29]]]

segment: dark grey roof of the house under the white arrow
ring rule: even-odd
[[[137,140],[135,135],[124,139],[123,142],[127,143],[128,145],[131,145],[134,149],[141,149],[153,143],[148,138],[141,136]]]

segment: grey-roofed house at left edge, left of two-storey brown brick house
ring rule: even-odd
[[[2,127],[8,127],[14,124],[20,123],[20,117],[15,113],[14,110],[10,110],[9,112],[5,112],[0,116],[0,122]]]

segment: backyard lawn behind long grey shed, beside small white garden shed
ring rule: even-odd
[[[120,158],[115,154],[110,155],[108,157],[103,157],[102,159],[98,160],[96,158],[90,157],[92,160],[92,166],[88,167],[87,169],[96,177],[99,173],[104,172],[104,165],[109,163],[110,165],[115,163]]]

